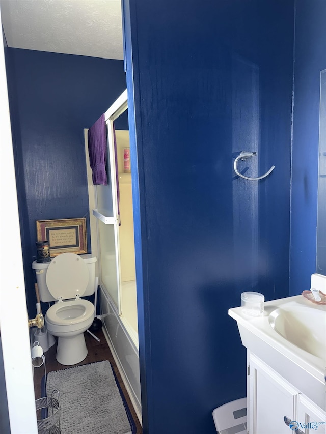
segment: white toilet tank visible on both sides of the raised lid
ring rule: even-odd
[[[90,254],[87,255],[78,255],[83,258],[85,263],[87,264],[89,279],[88,285],[83,294],[83,297],[90,296],[95,292],[95,263],[97,261],[96,256],[92,256]],[[51,261],[54,258],[51,259]],[[49,292],[47,284],[46,284],[46,271],[51,262],[36,262],[33,261],[32,268],[35,270],[37,286],[40,294],[40,300],[43,302],[57,301]]]

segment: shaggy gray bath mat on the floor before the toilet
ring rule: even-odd
[[[61,434],[131,434],[111,363],[90,363],[47,375],[47,392],[60,393]]]

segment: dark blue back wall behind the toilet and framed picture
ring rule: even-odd
[[[13,48],[6,50],[6,66],[25,284],[33,317],[36,220],[86,217],[89,229],[83,129],[125,90],[126,77],[122,61]]]

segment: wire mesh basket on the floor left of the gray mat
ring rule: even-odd
[[[53,393],[58,394],[58,398],[53,398]],[[59,392],[53,390],[50,398],[40,398],[35,401],[36,411],[40,411],[41,419],[37,419],[37,430],[41,434],[60,434],[60,403]],[[38,413],[39,414],[39,413]],[[59,422],[59,426],[56,424]]]

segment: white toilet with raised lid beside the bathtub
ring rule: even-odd
[[[75,365],[87,356],[84,332],[94,320],[94,305],[80,297],[95,292],[92,255],[62,253],[47,263],[33,261],[32,268],[43,302],[56,301],[45,314],[45,327],[58,336],[57,360]]]

